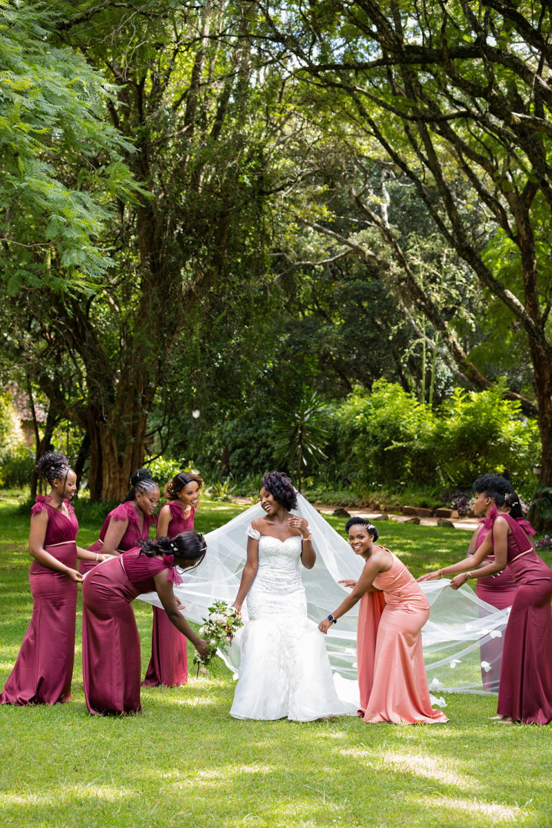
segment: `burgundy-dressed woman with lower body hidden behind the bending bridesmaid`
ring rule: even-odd
[[[99,540],[89,546],[94,552],[92,561],[79,565],[81,575],[86,575],[98,563],[100,553],[119,556],[127,549],[133,549],[138,541],[150,537],[151,522],[156,523],[154,512],[159,503],[159,487],[151,479],[148,469],[137,469],[130,479],[132,489],[121,505],[105,518]],[[95,555],[98,560],[95,560]]]

